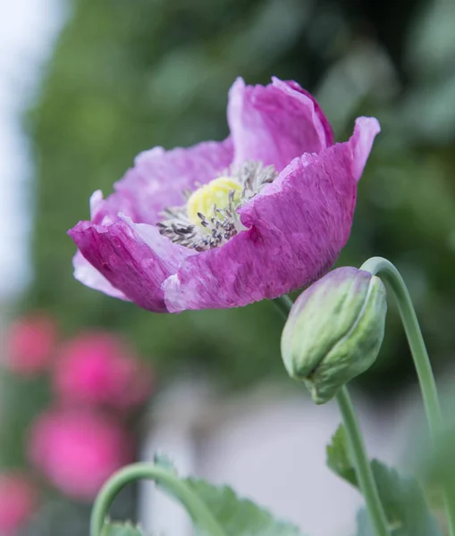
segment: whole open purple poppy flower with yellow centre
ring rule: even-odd
[[[154,147],[70,236],[76,279],[156,312],[245,306],[307,285],[350,236],[357,184],[375,135],[359,117],[345,143],[294,81],[238,79],[231,134]]]

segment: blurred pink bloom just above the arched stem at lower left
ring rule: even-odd
[[[131,438],[104,415],[51,410],[32,425],[30,460],[72,498],[91,500],[112,473],[131,461]]]

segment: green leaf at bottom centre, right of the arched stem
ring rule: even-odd
[[[175,471],[167,456],[156,456],[156,464],[166,470]],[[239,498],[227,486],[214,486],[195,478],[181,479],[204,502],[226,536],[303,536],[299,528],[291,523],[274,519],[264,508],[257,507],[251,500]],[[161,486],[170,493],[170,490]],[[197,535],[205,532],[196,527]]]

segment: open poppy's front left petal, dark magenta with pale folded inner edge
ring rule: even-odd
[[[114,289],[150,311],[167,312],[161,285],[196,252],[173,244],[156,227],[122,218],[109,226],[79,222],[70,236]]]

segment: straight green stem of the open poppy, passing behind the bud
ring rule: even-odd
[[[284,316],[287,316],[291,310],[292,301],[290,297],[282,296],[274,299],[274,304]],[[365,497],[368,513],[373,526],[375,527],[375,534],[376,536],[390,536],[387,527],[387,519],[383,512],[383,505],[377,492],[375,477],[371,470],[371,465],[348,388],[344,386],[340,389],[336,398],[346,429],[350,454],[358,478],[358,485]]]

